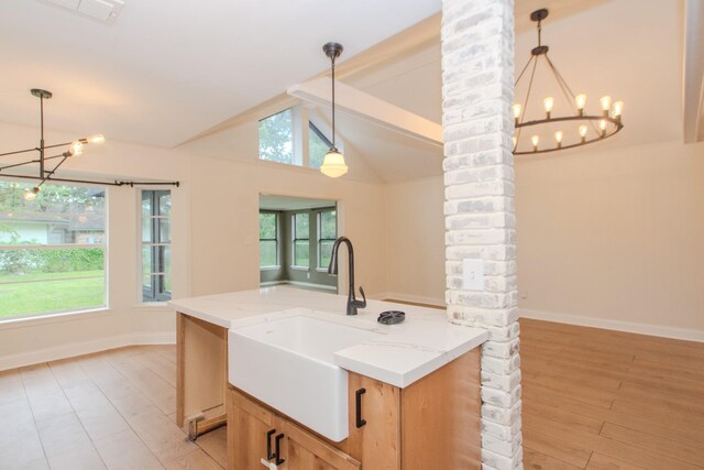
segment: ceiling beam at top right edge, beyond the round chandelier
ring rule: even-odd
[[[702,99],[704,98],[704,0],[686,0],[684,13],[684,84],[682,110],[684,143],[704,140]]]

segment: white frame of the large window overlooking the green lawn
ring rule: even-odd
[[[16,184],[18,188],[22,186],[32,187],[32,185],[28,185],[24,181],[18,179],[2,179],[3,182],[8,182],[11,184]],[[100,232],[102,234],[102,241],[99,243],[50,243],[51,232],[47,232],[46,243],[0,243],[0,252],[8,251],[20,251],[20,250],[29,250],[29,251],[43,251],[43,250],[102,250],[102,302],[98,305],[88,305],[80,307],[69,307],[69,308],[59,308],[55,310],[47,311],[31,311],[31,313],[22,313],[9,316],[0,316],[0,326],[10,325],[18,321],[42,321],[56,317],[64,317],[67,315],[86,315],[86,314],[95,314],[107,311],[109,309],[109,286],[108,286],[108,271],[109,271],[109,236],[108,236],[108,219],[109,219],[109,195],[108,187],[106,185],[100,184],[82,184],[82,183],[64,183],[64,182],[47,182],[47,186],[59,186],[59,187],[85,187],[90,189],[97,189],[102,193],[103,199],[103,223],[102,230],[91,230],[91,232]],[[92,196],[95,197],[95,195]],[[89,210],[89,209],[86,209]],[[14,212],[14,211],[13,211]],[[16,214],[23,214],[18,211]],[[73,212],[68,212],[72,215]],[[32,222],[33,223],[33,222]],[[47,227],[47,231],[48,231]],[[56,273],[66,273],[72,271],[57,271]],[[29,281],[4,281],[0,282],[0,286],[2,285],[12,285],[12,284],[25,284],[25,283],[45,283],[45,282],[61,282],[68,280],[82,278],[82,276],[67,276],[67,277],[57,277],[56,280],[29,280]],[[85,277],[87,278],[87,277]]]

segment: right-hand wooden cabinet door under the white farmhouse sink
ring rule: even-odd
[[[284,462],[279,469],[288,470],[359,470],[359,461],[292,422],[284,422]]]

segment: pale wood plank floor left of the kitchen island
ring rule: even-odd
[[[176,348],[117,349],[0,372],[0,469],[221,469],[224,428],[175,424]]]

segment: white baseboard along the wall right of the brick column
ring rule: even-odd
[[[521,318],[554,321],[558,324],[578,325],[583,327],[603,328],[639,335],[659,336],[662,338],[683,339],[686,341],[704,342],[704,331],[685,328],[673,328],[662,325],[636,324],[631,321],[612,320],[607,318],[581,317],[576,315],[558,314],[554,311],[520,308]]]

